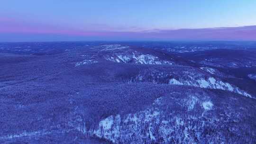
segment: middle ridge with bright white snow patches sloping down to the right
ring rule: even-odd
[[[188,69],[188,68],[183,68]],[[214,78],[212,75],[205,76],[197,69],[190,69],[189,72],[174,67],[174,69],[149,69],[141,71],[137,76],[130,78],[128,82],[153,82],[153,83],[168,83],[174,85],[189,85],[200,88],[219,89],[235,92],[246,97],[252,96],[244,90],[228,82],[223,82],[221,79]]]

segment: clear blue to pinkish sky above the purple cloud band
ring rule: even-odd
[[[256,0],[4,0],[0,38],[253,26],[255,7]]]

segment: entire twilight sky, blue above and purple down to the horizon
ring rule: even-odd
[[[256,0],[2,0],[0,41],[256,40]]]

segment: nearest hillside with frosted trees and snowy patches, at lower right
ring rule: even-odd
[[[236,105],[224,101],[217,102],[212,100],[214,97],[216,96],[191,93],[182,98],[159,97],[151,107],[144,110],[102,119],[99,127],[89,133],[113,144],[210,144],[219,140],[223,143],[244,143],[229,137],[233,134],[239,135],[236,133],[238,129],[247,127],[231,124],[244,123],[240,121],[241,115],[236,117],[230,110],[222,109],[223,105],[229,108],[235,108]],[[183,111],[183,114],[180,111]],[[222,118],[227,121],[219,126]],[[230,124],[232,128],[229,128]],[[225,133],[223,129],[229,130]]]

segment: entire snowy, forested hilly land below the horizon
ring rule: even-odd
[[[0,144],[256,144],[256,51],[205,43],[0,43]]]

